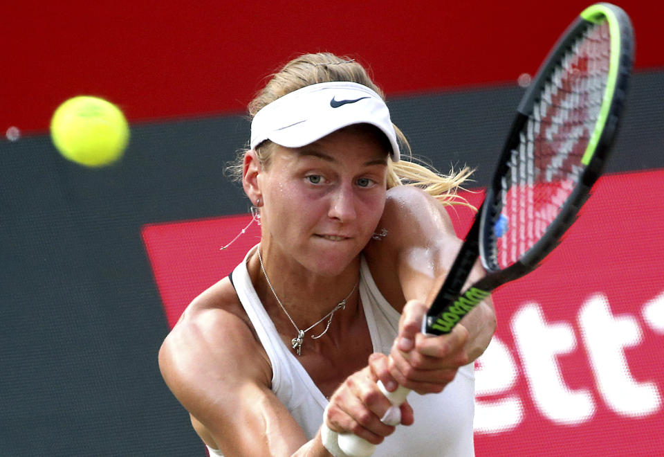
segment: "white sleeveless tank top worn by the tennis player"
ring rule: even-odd
[[[277,333],[251,283],[246,261],[232,273],[232,283],[259,340],[272,364],[272,391],[311,440],[323,420],[327,399],[313,383],[297,357]],[[389,354],[398,334],[400,314],[380,294],[364,257],[360,267],[360,298],[367,318],[374,352]],[[376,449],[374,456],[474,456],[472,418],[474,413],[474,368],[463,366],[454,381],[439,394],[411,393],[408,402],[415,422],[397,427]],[[215,451],[210,449],[210,451]],[[213,456],[219,456],[216,451]]]

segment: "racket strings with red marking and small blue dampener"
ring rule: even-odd
[[[607,22],[589,26],[560,57],[533,105],[501,180],[502,208],[493,221],[493,259],[501,269],[542,238],[579,182],[606,91],[610,44]]]

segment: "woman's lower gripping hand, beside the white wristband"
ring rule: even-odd
[[[392,404],[380,392],[376,384],[378,377],[371,368],[371,365],[383,364],[386,360],[386,355],[372,354],[369,366],[347,377],[337,388],[323,418],[329,429],[337,433],[353,433],[374,445],[394,433],[393,425],[381,422]],[[401,404],[400,416],[400,424],[413,423],[413,410],[408,402]],[[385,422],[389,420],[385,419]]]

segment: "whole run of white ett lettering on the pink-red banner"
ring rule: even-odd
[[[664,334],[664,292],[640,310],[654,332]],[[515,348],[522,361],[528,393],[544,418],[557,424],[575,425],[591,420],[596,400],[611,411],[629,418],[643,418],[661,411],[662,395],[656,382],[638,382],[631,375],[625,348],[643,342],[635,316],[614,316],[607,298],[597,294],[579,309],[581,341],[595,379],[596,397],[588,389],[572,391],[566,385],[557,356],[577,346],[571,324],[548,323],[537,303],[520,307],[512,316]],[[475,372],[474,429],[476,433],[502,433],[517,427],[524,417],[524,399],[516,390],[521,370],[510,348],[494,337],[478,359]]]

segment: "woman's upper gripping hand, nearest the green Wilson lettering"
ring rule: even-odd
[[[369,359],[371,370],[388,391],[400,385],[420,394],[439,393],[452,382],[459,367],[470,363],[465,350],[468,330],[463,325],[438,337],[421,333],[427,309],[421,301],[408,301],[389,357]]]

